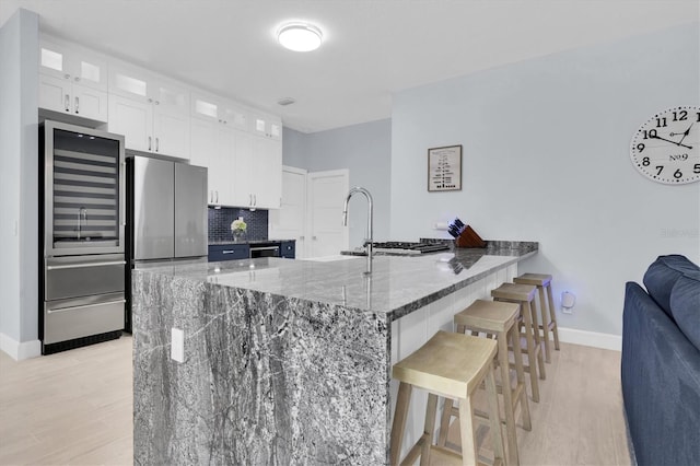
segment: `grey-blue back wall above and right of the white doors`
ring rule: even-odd
[[[375,241],[389,240],[389,119],[310,135],[285,128],[282,153],[284,165],[306,168],[310,172],[348,168],[350,186],[362,186],[372,194]],[[365,237],[366,207],[363,199],[353,198],[350,202],[350,247],[361,245]],[[338,218],[340,219],[340,215]],[[415,240],[418,240],[418,236]]]

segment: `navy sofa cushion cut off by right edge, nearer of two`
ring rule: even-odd
[[[700,349],[700,271],[687,272],[670,291],[670,312],[686,337]]]

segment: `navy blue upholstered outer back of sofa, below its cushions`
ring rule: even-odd
[[[622,397],[638,463],[700,464],[700,351],[637,283],[627,283],[622,319]]]

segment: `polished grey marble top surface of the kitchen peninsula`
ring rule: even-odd
[[[155,273],[336,304],[385,314],[394,321],[537,253],[535,242],[490,242],[421,256],[375,256],[337,261],[273,257],[191,265],[153,265]]]

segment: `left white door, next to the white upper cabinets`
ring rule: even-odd
[[[268,213],[272,240],[296,240],[296,258],[306,257],[306,174],[302,168],[282,167],[282,205]]]

